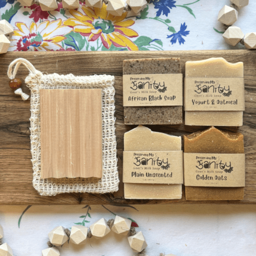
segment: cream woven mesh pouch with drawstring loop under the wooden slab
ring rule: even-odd
[[[12,72],[12,67],[14,70]],[[115,88],[114,76],[74,76],[42,74],[26,59],[18,58],[10,63],[8,76],[13,79],[20,64],[30,71],[25,82],[31,90],[31,154],[33,164],[33,186],[41,196],[61,193],[113,193],[118,190],[117,151],[115,136]],[[100,88],[102,92],[102,178],[48,178],[41,179],[40,150],[40,89]]]

